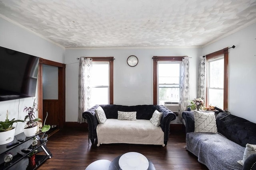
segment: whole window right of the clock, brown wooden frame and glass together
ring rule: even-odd
[[[182,57],[153,57],[153,104],[180,101]]]

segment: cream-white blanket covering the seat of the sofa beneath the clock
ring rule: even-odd
[[[164,146],[164,132],[160,126],[154,126],[149,120],[137,119],[118,120],[107,119],[104,124],[98,124],[98,144],[130,143]]]

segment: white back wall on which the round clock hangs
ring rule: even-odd
[[[66,49],[66,121],[78,117],[79,57],[114,57],[114,104],[153,104],[153,56],[189,56],[190,98],[196,97],[196,74],[200,48],[187,49]],[[138,57],[138,65],[126,63],[130,55]]]

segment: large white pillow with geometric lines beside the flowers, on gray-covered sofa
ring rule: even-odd
[[[194,110],[195,131],[218,133],[214,112],[202,112]]]

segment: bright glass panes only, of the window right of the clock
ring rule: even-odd
[[[180,101],[180,62],[158,63],[158,104]]]

